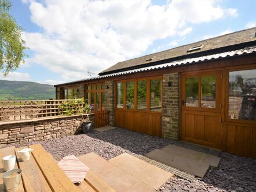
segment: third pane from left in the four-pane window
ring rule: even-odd
[[[147,110],[147,81],[137,82],[137,109]]]

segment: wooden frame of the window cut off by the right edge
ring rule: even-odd
[[[243,119],[229,119],[229,72],[236,72],[239,70],[250,70],[256,69],[256,63],[253,65],[244,66],[233,66],[225,68],[226,76],[226,91],[225,91],[225,123],[230,123],[233,125],[256,125],[256,120],[243,120]]]

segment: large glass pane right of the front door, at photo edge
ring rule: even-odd
[[[256,69],[229,72],[229,119],[256,120]]]

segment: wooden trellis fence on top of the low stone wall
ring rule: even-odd
[[[83,113],[83,105],[76,99],[0,101],[0,122],[37,119]]]

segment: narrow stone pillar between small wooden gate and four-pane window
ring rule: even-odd
[[[109,125],[114,125],[114,82],[105,81],[105,109],[109,110]]]

